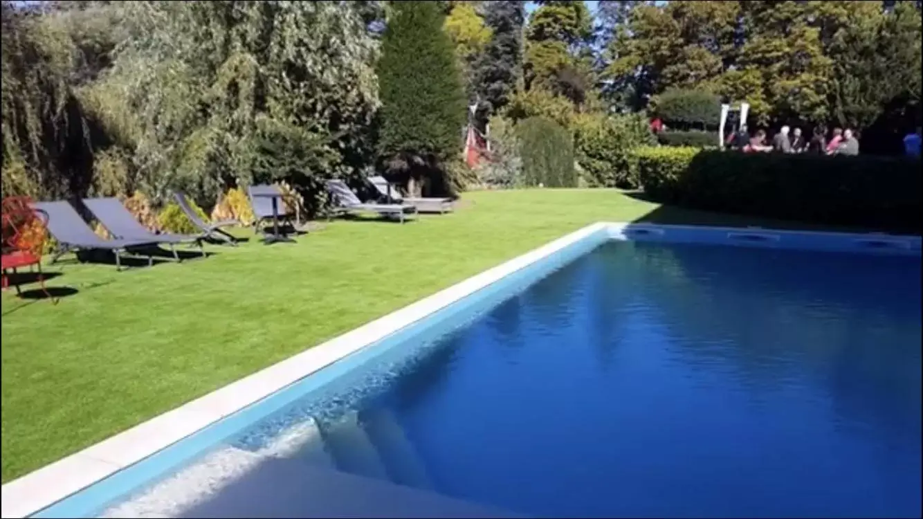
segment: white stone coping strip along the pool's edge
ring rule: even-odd
[[[545,259],[557,251],[569,247],[597,232],[611,237],[627,233],[631,229],[649,229],[654,235],[665,231],[693,231],[722,233],[727,239],[732,235],[770,235],[774,241],[779,236],[826,237],[831,240],[889,240],[897,239],[918,251],[920,238],[917,236],[860,235],[809,231],[780,231],[761,228],[741,229],[739,227],[704,227],[696,225],[659,225],[647,223],[593,223],[558,238],[545,246],[533,249],[519,257],[454,284],[438,293],[427,296],[407,307],[396,310],[382,318],[366,323],[351,332],[330,341],[306,349],[281,362],[264,368],[241,380],[236,380],[214,392],[210,392],[187,404],[183,404],[162,415],[129,428],[106,440],[66,456],[52,464],[19,477],[2,487],[0,504],[4,518],[28,517],[66,497],[86,489],[114,473],[138,463],[151,454],[181,441],[189,435],[206,428],[222,418],[254,404],[274,392],[291,385],[297,380],[329,366],[341,358],[353,354],[366,345],[374,344],[402,328],[423,320],[427,316],[446,308],[474,292],[494,284],[513,272]]]

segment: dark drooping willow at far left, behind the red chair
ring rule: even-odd
[[[77,49],[44,17],[2,3],[4,196],[66,197],[90,185],[90,124],[71,84]]]

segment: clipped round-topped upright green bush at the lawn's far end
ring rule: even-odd
[[[577,187],[573,139],[567,129],[549,119],[532,117],[520,123],[517,133],[524,185]]]

